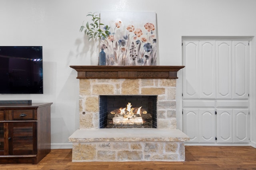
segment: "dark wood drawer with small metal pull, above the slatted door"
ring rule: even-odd
[[[37,120],[34,110],[10,110],[9,120]]]

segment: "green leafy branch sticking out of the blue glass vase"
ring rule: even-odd
[[[100,25],[104,25],[103,23],[100,23],[100,16],[99,14],[96,14],[96,12],[92,13],[89,12],[86,17],[92,17],[92,23],[89,23],[87,21],[86,26],[83,25],[80,27],[80,32],[84,30],[84,34],[88,36],[88,41],[90,39],[97,40],[98,38],[105,37],[107,38],[110,32],[108,31],[110,27],[106,25],[104,27],[104,30],[100,29]]]

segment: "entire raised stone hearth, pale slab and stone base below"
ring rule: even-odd
[[[184,161],[189,137],[178,129],[78,129],[72,162]]]

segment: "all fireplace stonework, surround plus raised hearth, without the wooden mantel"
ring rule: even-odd
[[[175,92],[176,79],[80,79],[80,129],[69,138],[72,161],[185,160],[189,138],[176,129]],[[99,129],[100,95],[157,96],[158,128]]]

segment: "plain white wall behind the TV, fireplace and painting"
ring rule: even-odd
[[[182,65],[182,36],[256,36],[255,8],[255,0],[0,0],[0,45],[42,45],[44,54],[44,94],[1,94],[0,100],[53,102],[52,147],[69,147],[68,137],[79,127],[77,72],[69,66],[90,65],[87,37],[79,32],[88,12],[156,12],[159,65]],[[255,47],[253,38],[254,103]],[[255,106],[250,113],[256,129]]]

